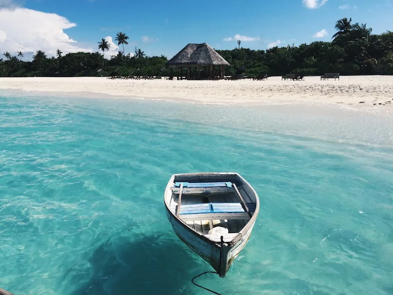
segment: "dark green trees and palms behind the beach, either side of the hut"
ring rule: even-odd
[[[366,24],[352,24],[352,19],[343,18],[336,23],[337,33],[332,42],[312,42],[298,47],[287,45],[264,50],[239,48],[218,50],[231,65],[225,69],[226,75],[233,75],[241,66],[247,68],[245,74],[256,76],[267,73],[277,76],[288,73],[321,75],[337,72],[341,75],[393,74],[393,32],[371,34]],[[12,56],[5,52],[0,59],[0,76],[111,76],[111,75],[169,75],[165,68],[167,57],[147,57],[135,48],[134,56],[125,55],[124,45],[129,37],[119,32],[115,40],[123,45],[123,51],[111,59],[104,59],[109,43],[102,39],[96,53],[69,53],[48,58],[43,51],[37,51],[32,61],[22,61],[23,53]],[[19,57],[19,59],[18,59]]]

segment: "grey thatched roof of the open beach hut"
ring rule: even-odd
[[[229,63],[207,43],[190,43],[166,63],[166,65],[170,67],[221,64],[229,65]]]

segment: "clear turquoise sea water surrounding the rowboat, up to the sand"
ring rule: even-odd
[[[329,112],[327,112],[327,110]],[[236,171],[261,210],[222,294],[392,294],[390,114],[0,96],[0,288],[209,294],[173,234],[173,173]]]

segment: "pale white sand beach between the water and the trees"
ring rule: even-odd
[[[109,80],[105,77],[81,78],[0,78],[0,89],[78,93],[91,92],[116,97],[168,99],[214,104],[279,104],[312,102],[393,105],[393,76],[341,76],[340,80],[320,81],[168,81]]]

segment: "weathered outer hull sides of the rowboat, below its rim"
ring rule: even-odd
[[[176,236],[178,236],[179,239],[184,242],[193,252],[195,252],[198,256],[208,262],[219,273],[220,277],[225,277],[226,272],[229,270],[233,261],[236,259],[242,249],[246,246],[255,223],[254,222],[251,225],[250,229],[246,232],[244,236],[242,236],[242,238],[236,244],[228,247],[228,254],[222,261],[222,263],[225,264],[226,267],[223,267],[223,269],[225,270],[220,273],[221,246],[212,245],[211,243],[203,240],[200,236],[197,236],[196,233],[194,233],[193,229],[180,222],[174,216],[171,216],[171,213],[168,212],[168,210],[167,216]]]

